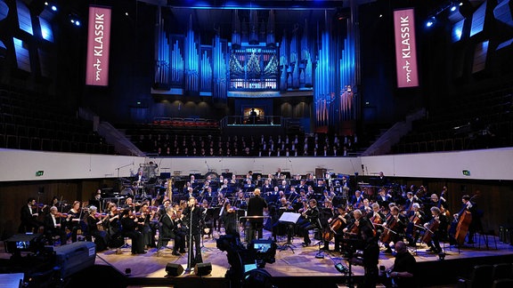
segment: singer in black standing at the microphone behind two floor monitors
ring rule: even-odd
[[[201,258],[201,227],[203,226],[201,221],[203,215],[201,208],[196,205],[196,198],[190,197],[187,207],[183,210],[184,221],[183,223],[189,227],[191,239],[189,239],[189,268],[193,268],[198,263],[202,263]],[[192,249],[194,246],[194,249]]]

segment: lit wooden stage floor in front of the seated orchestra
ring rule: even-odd
[[[196,276],[193,271],[187,270],[181,276],[167,276],[168,263],[187,268],[187,254],[174,256],[170,249],[164,248],[159,255],[156,249],[150,249],[146,254],[132,255],[130,248],[122,248],[120,253],[116,253],[115,250],[98,252],[94,266],[78,272],[65,286],[89,283],[94,278],[94,282],[108,284],[109,287],[229,287],[229,282],[225,278],[226,271],[230,268],[227,252],[216,248],[216,238],[222,234],[223,232],[220,234],[215,231],[213,238],[204,239],[203,262],[212,266],[212,272],[208,276]],[[269,236],[269,232],[265,231],[265,236]],[[285,240],[279,237],[278,246],[280,247]],[[346,285],[347,281],[357,283],[362,280],[362,267],[352,266],[353,276],[350,279],[347,274],[338,272],[335,264],[341,262],[348,266],[346,259],[339,253],[323,252],[319,255],[318,246],[302,247],[301,243],[302,239],[295,236],[292,241],[296,246],[294,251],[289,248],[283,251],[278,249],[275,262],[265,264],[265,270],[272,276],[276,287],[312,287],[319,284],[322,284],[322,287],[337,287]],[[475,244],[462,247],[460,250],[445,245],[444,260],[439,260],[436,254],[426,252],[428,247],[425,244],[419,244],[416,251],[411,247],[411,252],[418,262],[417,277],[420,286],[453,287],[457,284],[459,276],[468,276],[471,268],[477,264],[513,262],[513,245],[503,244],[498,237],[493,239],[493,236],[488,236],[488,244],[487,249],[482,240],[480,247]],[[330,248],[333,248],[332,244]],[[2,252],[4,263],[7,263],[8,258],[9,254]],[[380,252],[380,266],[388,268],[393,262],[394,256]]]

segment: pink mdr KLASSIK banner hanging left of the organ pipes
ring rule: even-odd
[[[85,84],[109,84],[110,8],[89,7]]]

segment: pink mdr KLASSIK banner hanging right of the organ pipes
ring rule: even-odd
[[[419,86],[413,9],[394,11],[397,87]]]

